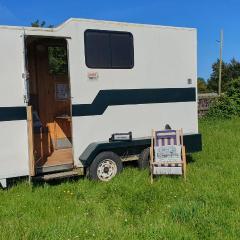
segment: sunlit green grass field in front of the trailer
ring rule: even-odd
[[[240,119],[200,123],[187,181],[128,167],[109,183],[79,179],[0,190],[0,239],[240,239]]]

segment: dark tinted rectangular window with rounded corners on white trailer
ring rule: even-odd
[[[87,30],[85,32],[85,60],[89,68],[133,68],[132,34],[117,31]]]

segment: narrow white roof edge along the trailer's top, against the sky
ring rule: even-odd
[[[116,21],[105,21],[105,20],[95,20],[95,19],[83,19],[83,18],[69,18],[62,24],[54,28],[39,28],[39,27],[26,27],[26,26],[8,26],[0,25],[0,29],[15,29],[15,30],[28,30],[28,31],[45,31],[45,32],[55,32],[64,28],[67,24],[71,22],[82,22],[82,23],[102,23],[108,25],[119,25],[119,26],[135,26],[135,27],[148,27],[148,28],[170,28],[176,30],[187,30],[192,31],[196,28],[187,28],[187,27],[173,27],[173,26],[162,26],[162,25],[152,25],[152,24],[140,24],[140,23],[127,23],[127,22],[116,22]]]

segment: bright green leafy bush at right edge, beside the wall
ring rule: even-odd
[[[240,78],[230,82],[227,92],[212,103],[206,115],[208,118],[233,116],[240,116]]]

